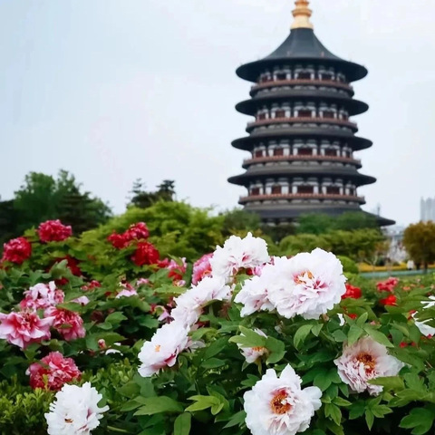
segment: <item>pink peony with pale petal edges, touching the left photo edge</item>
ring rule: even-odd
[[[50,340],[53,318],[40,319],[38,314],[18,312],[0,314],[0,338],[24,349],[30,343]]]

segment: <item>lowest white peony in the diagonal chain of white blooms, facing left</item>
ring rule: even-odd
[[[185,325],[179,322],[164,324],[158,329],[150,342],[143,343],[140,349],[140,375],[148,378],[164,367],[172,367],[188,345],[188,333]]]

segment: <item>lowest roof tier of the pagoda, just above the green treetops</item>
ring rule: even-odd
[[[259,215],[261,220],[266,224],[277,225],[295,222],[297,218],[302,215],[313,215],[313,214],[323,214],[328,216],[340,216],[346,212],[361,212],[371,217],[376,218],[378,225],[380,227],[386,227],[389,225],[394,225],[396,222],[391,219],[382,218],[381,216],[373,215],[367,211],[362,210],[357,205],[348,205],[340,207],[331,207],[331,205],[318,204],[313,206],[292,205],[291,208],[288,206],[279,207],[276,204],[271,204],[270,207],[266,204],[261,205],[250,205],[248,204],[245,208],[246,211],[256,213]]]

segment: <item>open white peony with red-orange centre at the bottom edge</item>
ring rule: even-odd
[[[243,396],[247,427],[253,435],[303,432],[310,426],[314,411],[321,407],[321,397],[317,387],[301,389],[301,378],[290,365],[279,378],[269,369]]]

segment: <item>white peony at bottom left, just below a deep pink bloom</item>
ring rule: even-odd
[[[45,414],[49,435],[89,435],[100,425],[102,413],[109,410],[108,406],[99,408],[102,394],[90,382],[82,387],[63,385],[55,400]]]

